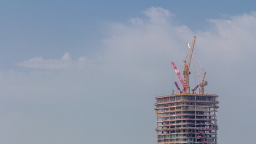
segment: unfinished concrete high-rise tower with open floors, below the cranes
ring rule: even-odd
[[[157,144],[217,144],[218,97],[215,94],[156,97]]]

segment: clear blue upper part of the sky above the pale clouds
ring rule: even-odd
[[[254,5],[255,1],[1,1],[0,46],[5,50],[0,64],[13,68],[32,56],[56,58],[64,52],[88,56],[108,35],[108,23],[144,17],[141,11],[152,6],[176,14],[177,25],[202,30],[209,28],[207,19],[249,13]]]

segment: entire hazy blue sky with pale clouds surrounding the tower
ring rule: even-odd
[[[255,143],[254,5],[0,1],[0,142],[156,143],[154,97],[171,94],[171,62],[183,64],[197,35],[206,92],[219,95],[218,142]]]

